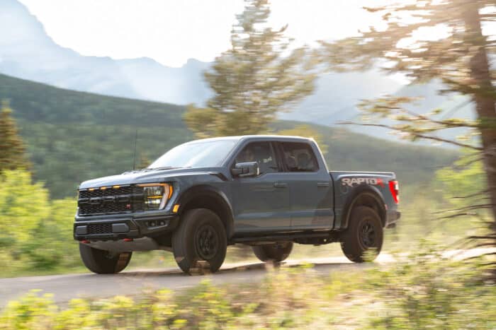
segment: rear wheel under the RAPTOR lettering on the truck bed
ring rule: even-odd
[[[348,229],[343,233],[341,249],[354,262],[373,261],[383,247],[383,225],[373,208],[359,206],[351,211]]]

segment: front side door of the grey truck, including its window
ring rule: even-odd
[[[236,177],[232,186],[235,234],[291,229],[291,207],[286,175],[272,143],[252,142],[242,148],[235,163],[259,163],[257,177]]]

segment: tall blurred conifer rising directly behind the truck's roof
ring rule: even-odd
[[[263,133],[277,112],[312,93],[315,75],[305,49],[289,52],[286,27],[269,28],[269,16],[269,1],[245,1],[231,48],[205,72],[213,98],[206,109],[188,107],[184,117],[198,137]]]

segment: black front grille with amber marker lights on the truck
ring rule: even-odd
[[[143,210],[143,189],[136,186],[79,190],[79,216]]]

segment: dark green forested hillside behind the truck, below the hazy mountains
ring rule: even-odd
[[[75,92],[0,74],[0,99],[11,102],[34,164],[35,179],[52,196],[74,196],[79,182],[153,160],[193,139],[182,122],[185,108],[167,103]],[[278,122],[274,130],[300,122]],[[312,125],[328,146],[333,170],[393,170],[404,184],[425,182],[437,167],[450,164],[453,151],[405,146],[346,129]]]

